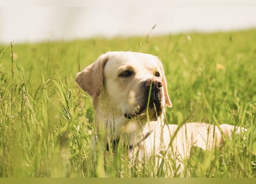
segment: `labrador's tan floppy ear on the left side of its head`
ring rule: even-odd
[[[94,99],[101,94],[101,86],[104,82],[104,67],[108,61],[108,55],[102,54],[96,62],[90,64],[75,77],[75,82]]]

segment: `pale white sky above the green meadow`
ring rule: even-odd
[[[255,0],[27,2],[0,7],[0,43],[256,28]]]

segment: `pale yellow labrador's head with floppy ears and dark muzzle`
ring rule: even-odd
[[[150,54],[107,52],[75,81],[93,98],[96,115],[129,120],[148,113],[155,120],[171,107],[162,63]]]

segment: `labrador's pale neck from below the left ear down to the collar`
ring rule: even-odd
[[[100,100],[93,101],[96,113],[96,128],[98,133],[106,136],[106,140],[116,143],[117,140],[127,141],[129,147],[140,143],[155,129],[163,126],[164,110],[158,118],[144,116],[143,118],[128,119],[124,116],[121,107],[112,105],[108,97],[100,95]],[[102,97],[102,98],[101,98]],[[152,114],[153,110],[149,112]]]

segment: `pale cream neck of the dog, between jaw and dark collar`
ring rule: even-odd
[[[154,131],[155,127],[162,125],[162,117],[157,120],[148,121],[148,118],[136,119],[125,118],[119,109],[106,110],[100,104],[94,104],[96,112],[97,131],[104,132],[107,139],[129,139],[129,143],[136,144],[142,140],[149,132]],[[102,116],[104,114],[104,116]]]

